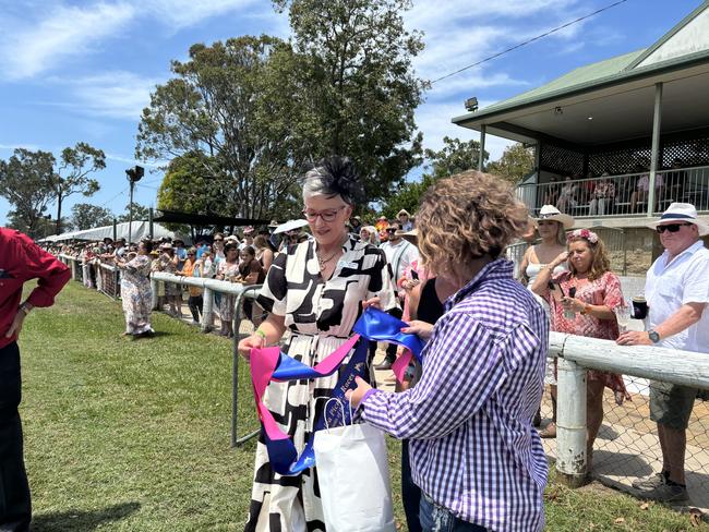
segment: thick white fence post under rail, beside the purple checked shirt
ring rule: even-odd
[[[570,487],[587,482],[586,368],[558,358],[556,471]]]

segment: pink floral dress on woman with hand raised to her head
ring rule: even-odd
[[[562,287],[562,290],[567,295],[569,289],[576,287],[575,298],[586,304],[605,305],[611,311],[624,304],[621,280],[610,271],[582,287],[577,287],[578,280],[573,277],[570,271],[555,274],[552,279],[553,282]],[[615,340],[618,337],[617,322],[615,319],[599,319],[590,314],[580,313],[575,313],[574,318],[569,319],[564,317],[564,307],[551,293],[546,295],[546,302],[551,309],[552,330],[556,332],[568,332],[603,340]],[[601,380],[613,391],[620,391],[626,398],[629,398],[623,376],[617,373],[589,370],[588,380]]]

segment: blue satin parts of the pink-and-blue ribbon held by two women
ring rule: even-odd
[[[411,350],[417,360],[421,361],[423,342],[416,335],[401,332],[401,328],[406,326],[407,324],[400,319],[376,309],[369,307],[362,313],[352,329],[361,336],[361,339],[350,356],[347,367],[341,371],[337,385],[331,395],[331,399],[337,399],[337,401],[327,402],[323,410],[323,415],[316,420],[313,433],[310,435],[300,457],[298,457],[296,446],[290,438],[272,439],[268,437],[266,431],[262,431],[268,451],[268,459],[276,473],[281,475],[297,475],[305,469],[314,467],[315,454],[313,451],[313,440],[315,432],[325,428],[326,422],[327,426],[349,425],[352,423],[348,408],[349,401],[345,399],[345,394],[357,387],[354,383],[357,377],[365,376],[369,353],[369,342],[365,340],[386,341],[404,346]],[[332,375],[338,368],[335,367],[332,372],[323,374],[281,351],[272,379],[283,382],[320,378],[325,375]],[[341,413],[339,419],[338,413]]]

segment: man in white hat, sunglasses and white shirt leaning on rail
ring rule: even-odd
[[[697,218],[688,203],[673,203],[656,229],[664,247],[648,270],[645,297],[648,303],[647,331],[621,335],[621,346],[659,346],[709,353],[709,250],[699,237],[709,225]],[[658,424],[662,471],[633,486],[645,498],[680,503],[687,500],[684,477],[686,430],[697,396],[696,388],[669,383],[650,383],[650,419]]]

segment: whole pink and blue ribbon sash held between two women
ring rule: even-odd
[[[263,403],[263,396],[268,383],[271,380],[286,382],[332,375],[340,367],[343,361],[360,338],[397,343],[405,348],[405,354],[399,356],[392,366],[393,370],[397,368],[395,374],[400,380],[411,356],[416,356],[421,362],[421,351],[423,350],[423,343],[419,337],[401,332],[401,327],[406,327],[406,325],[389,314],[369,307],[354,324],[352,330],[356,334],[314,367],[304,365],[281,352],[277,347],[251,350],[251,382],[253,384],[254,399],[256,400],[256,411],[263,427],[268,459],[276,473],[296,475],[315,466],[315,454],[313,452],[314,433],[325,427],[325,420],[327,420],[328,424],[335,420],[335,409],[337,407],[332,403],[329,404],[331,408],[325,407],[323,415],[315,422],[313,433],[305,443],[301,456],[298,457],[298,451],[290,437],[278,427],[273,414]],[[333,389],[332,398],[344,399],[345,392],[354,388],[354,378],[364,375],[368,352],[369,342],[360,341],[347,367],[341,372],[340,378]],[[343,410],[345,411],[345,409]],[[351,423],[349,412],[345,411],[343,413],[343,420],[345,424]]]

